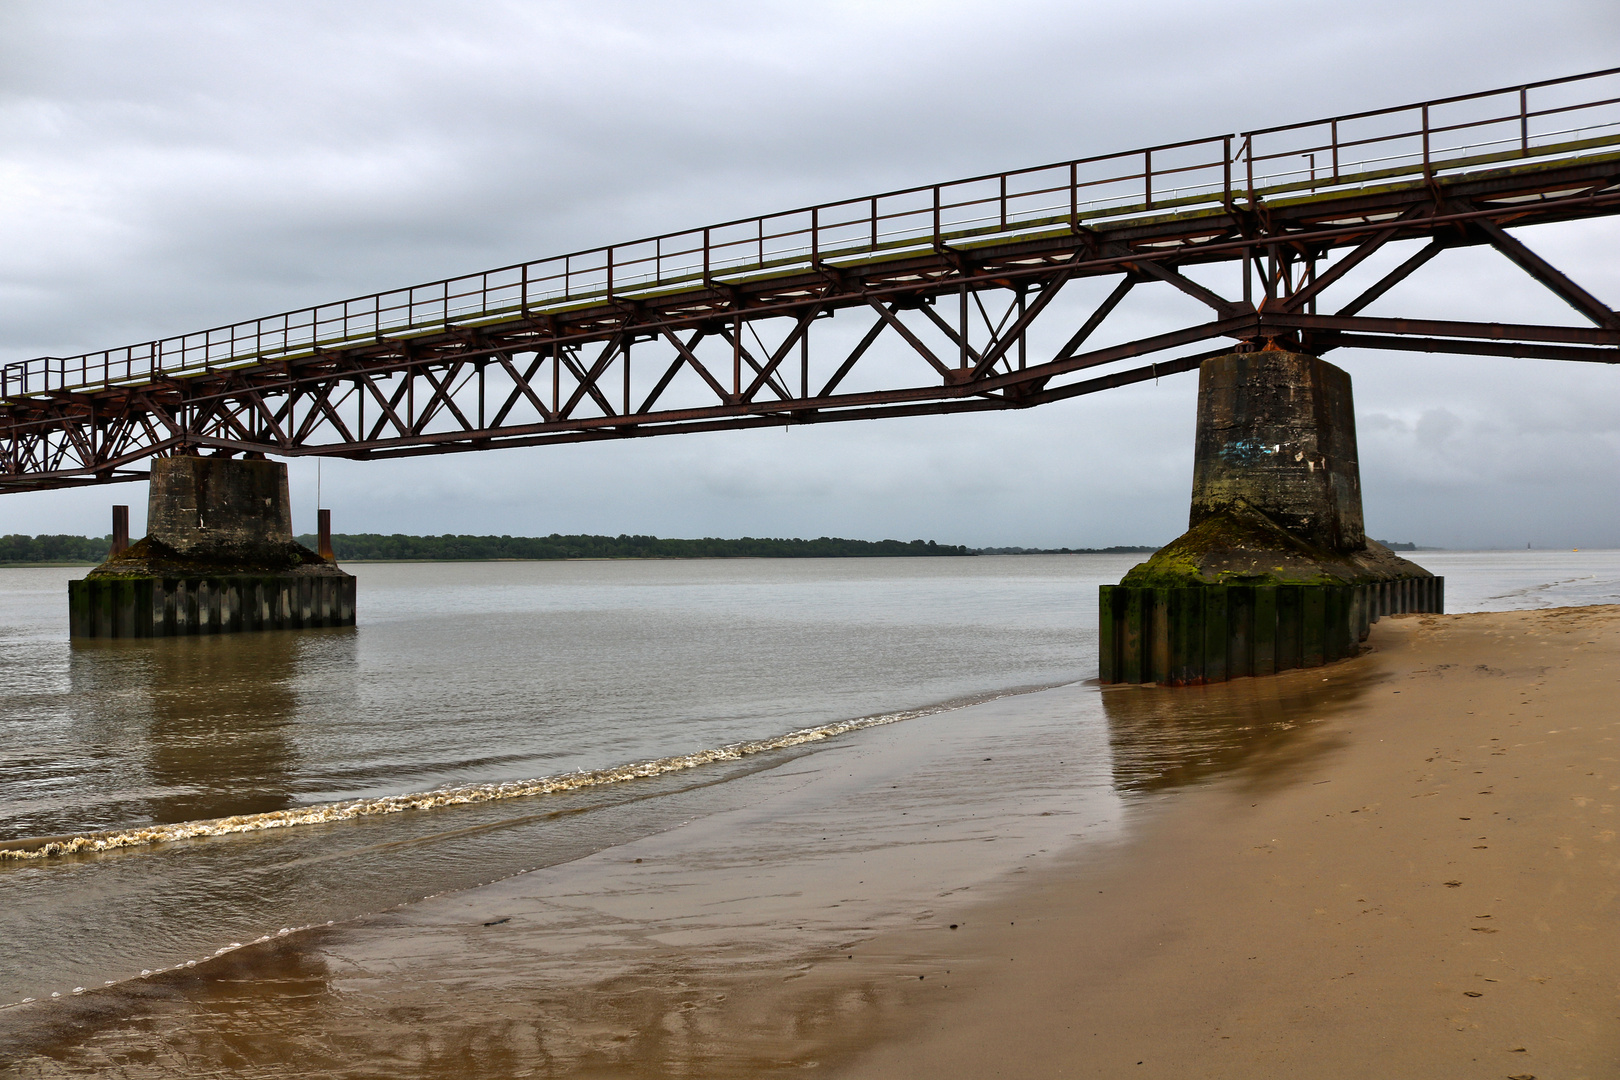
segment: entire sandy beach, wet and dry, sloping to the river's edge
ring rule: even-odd
[[[1620,1074],[1620,609],[1372,646],[862,732],[565,866],[10,1010],[0,1046],[19,1075]]]

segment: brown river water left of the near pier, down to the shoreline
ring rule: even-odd
[[[0,572],[0,840],[557,777],[1090,674],[1129,559],[360,565],[355,630],[70,646]],[[0,860],[0,1002],[666,827],[802,750],[546,798]],[[679,801],[679,800],[677,800]]]

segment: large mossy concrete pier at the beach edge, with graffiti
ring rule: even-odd
[[[1225,682],[1354,656],[1445,581],[1369,541],[1349,376],[1265,348],[1205,359],[1187,531],[1102,586],[1105,683]]]

